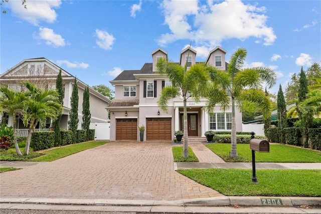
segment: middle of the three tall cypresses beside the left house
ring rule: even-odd
[[[78,128],[78,85],[77,79],[75,77],[75,82],[73,85],[71,93],[71,110],[69,113],[68,129],[72,131],[72,142],[77,143],[77,128]]]

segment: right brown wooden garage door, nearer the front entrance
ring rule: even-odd
[[[147,118],[146,140],[172,140],[172,118]]]

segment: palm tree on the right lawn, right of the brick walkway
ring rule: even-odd
[[[267,118],[271,114],[271,100],[265,96],[262,84],[265,82],[271,88],[276,81],[274,71],[269,68],[243,68],[246,55],[247,51],[243,48],[233,53],[227,72],[217,71],[212,75],[212,90],[207,95],[208,111],[211,111],[216,104],[220,104],[224,111],[232,106],[231,157],[238,157],[235,102],[239,105],[245,100],[256,103],[262,109],[263,117]]]

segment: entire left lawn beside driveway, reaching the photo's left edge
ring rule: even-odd
[[[66,157],[77,152],[90,149],[96,146],[103,145],[108,141],[88,141],[78,144],[71,144],[63,147],[52,148],[48,151],[30,151],[27,156],[17,155],[16,149],[11,148],[7,151],[2,151],[0,153],[0,160],[3,161],[53,161],[59,158]],[[24,153],[24,148],[20,148],[21,152]]]

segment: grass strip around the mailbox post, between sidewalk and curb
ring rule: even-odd
[[[321,170],[179,169],[179,173],[227,196],[321,196]]]

